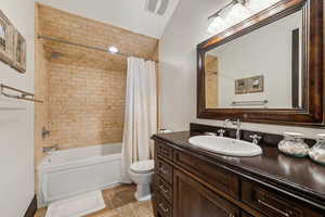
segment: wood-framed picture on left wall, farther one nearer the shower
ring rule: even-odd
[[[26,72],[26,40],[22,36],[22,34],[15,29],[14,34],[14,52],[13,52],[13,67],[17,69],[20,73]]]

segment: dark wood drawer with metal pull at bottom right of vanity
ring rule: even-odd
[[[299,201],[269,190],[258,183],[243,180],[242,200],[270,217],[322,217]]]

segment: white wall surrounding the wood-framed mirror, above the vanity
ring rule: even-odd
[[[266,3],[256,9],[265,8]],[[266,1],[265,1],[266,2]],[[274,2],[274,1],[273,1]],[[160,40],[160,119],[161,128],[187,130],[188,124],[200,123],[222,126],[222,122],[196,118],[196,44],[207,39],[207,17],[226,1],[180,1]],[[243,128],[282,133],[299,131],[314,137],[321,129],[258,125],[244,123]]]

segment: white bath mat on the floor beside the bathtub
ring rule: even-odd
[[[51,203],[46,217],[81,217],[105,208],[101,191]]]

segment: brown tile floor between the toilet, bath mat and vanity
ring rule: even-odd
[[[103,191],[106,208],[87,217],[154,217],[152,202],[134,199],[135,186],[119,186]],[[44,217],[46,208],[40,208],[35,217]]]

